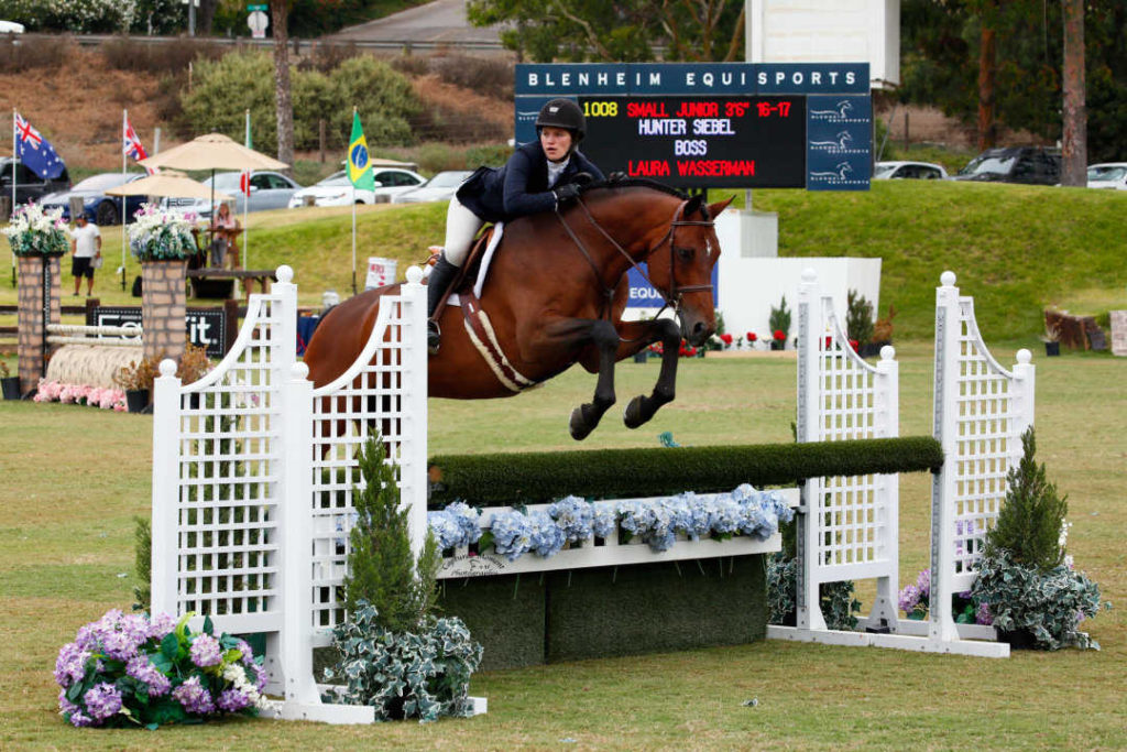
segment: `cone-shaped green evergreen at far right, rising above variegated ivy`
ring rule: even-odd
[[[986,534],[986,550],[1006,551],[1014,564],[1047,572],[1064,561],[1061,545],[1067,496],[1061,498],[1045,477],[1045,466],[1033,459],[1037,440],[1032,426],[1021,435],[1023,453],[1006,474],[1005,502],[994,528]]]

